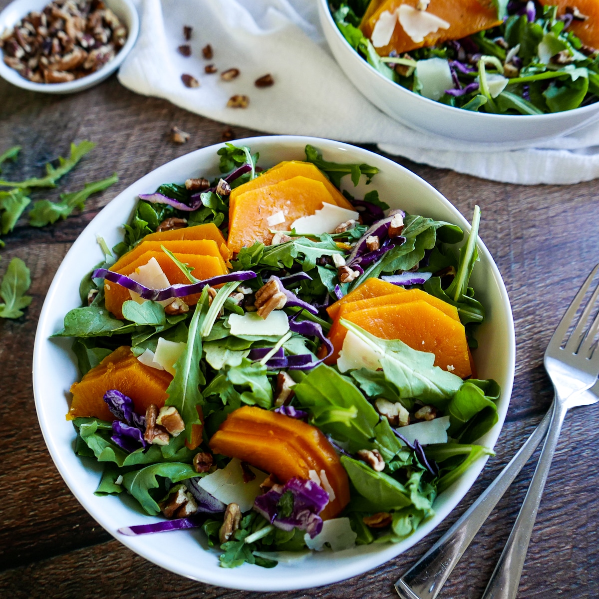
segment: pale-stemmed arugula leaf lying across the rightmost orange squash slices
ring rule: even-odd
[[[346,319],[340,323],[380,353],[385,377],[398,389],[401,398],[420,399],[444,409],[461,387],[463,381],[459,376],[434,365],[434,353],[419,352],[398,339],[380,339]]]

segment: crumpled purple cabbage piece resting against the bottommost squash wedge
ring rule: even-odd
[[[281,498],[288,492],[293,500],[291,513],[283,515],[285,512],[281,512],[289,503],[281,501]],[[285,485],[275,485],[264,495],[258,495],[254,509],[277,528],[288,531],[299,528],[305,530],[310,539],[314,539],[322,530],[319,513],[328,502],[329,494],[315,482],[294,477]]]

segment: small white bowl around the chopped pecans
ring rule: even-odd
[[[42,11],[50,3],[50,0],[14,0],[0,13],[0,34],[5,29],[13,29],[14,24],[27,16],[31,11]],[[110,77],[114,71],[121,65],[125,57],[129,54],[137,40],[140,32],[140,17],[137,14],[135,5],[131,0],[104,0],[104,3],[119,17],[128,31],[127,41],[113,60],[107,62],[102,68],[86,77],[66,81],[66,83],[34,83],[25,77],[19,75],[17,71],[6,65],[3,60],[3,53],[0,50],[0,77],[9,83],[28,89],[32,92],[43,93],[74,93],[95,86],[96,83],[104,81]]]

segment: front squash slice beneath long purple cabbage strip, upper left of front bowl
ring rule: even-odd
[[[175,257],[193,268],[192,274],[196,279],[208,279],[216,277],[220,274],[226,274],[227,270],[223,266],[224,262],[221,256],[201,256],[196,254],[180,254],[175,253]],[[160,252],[145,252],[133,262],[129,262],[125,267],[116,271],[120,274],[132,274],[136,268],[146,265],[151,258],[156,258],[158,264],[167,276],[168,282],[171,285],[175,283],[189,283],[185,275],[180,271],[179,267],[164,253]],[[123,302],[131,299],[131,294],[128,289],[117,285],[116,283],[104,282],[104,297],[106,309],[114,314],[115,317],[123,319]],[[195,305],[198,302],[199,294],[186,295],[182,298],[187,305]]]

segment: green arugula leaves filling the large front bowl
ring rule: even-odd
[[[356,0],[353,4],[357,5]],[[319,167],[335,184],[349,174],[354,184],[364,175],[368,181],[376,168],[366,164],[336,164],[325,161],[319,150],[307,146],[308,161]],[[231,174],[243,165],[251,170],[243,180],[258,173],[258,155],[247,147],[227,144],[219,150],[220,171]],[[228,175],[225,175],[228,176]],[[258,175],[259,176],[259,175]],[[241,179],[241,177],[239,177]],[[243,182],[243,181],[242,181]],[[216,181],[214,181],[216,183]],[[232,187],[239,181],[232,181]],[[167,183],[158,192],[177,201],[190,202],[191,193],[179,183]],[[346,196],[353,199],[349,194]],[[388,205],[380,201],[376,191],[364,198],[380,210]],[[228,199],[214,192],[202,193],[202,206],[196,211],[182,213],[170,205],[138,202],[134,216],[125,225],[125,238],[114,252],[122,255],[134,247],[146,234],[156,231],[167,217],[185,217],[189,225],[215,222],[225,228]],[[367,276],[397,273],[417,269],[437,273],[453,268],[455,277],[447,285],[445,279],[433,276],[428,280],[434,295],[458,307],[458,313],[470,324],[484,317],[482,306],[473,298],[468,281],[477,259],[476,240],[479,212],[476,211],[470,235],[460,250],[459,257],[451,250],[462,240],[462,230],[450,223],[407,214],[402,232],[406,241],[389,250],[382,259],[368,268],[364,275],[350,285],[346,293],[359,285]],[[276,246],[255,243],[244,247],[231,262],[232,271],[252,270],[255,279],[243,283],[256,291],[275,274],[305,273],[307,278],[288,286],[302,301],[312,305],[326,305],[327,297],[336,297],[338,286],[332,256],[349,254],[349,247],[364,235],[367,226],[357,225],[344,234],[302,236],[290,231],[291,241]],[[195,282],[192,271],[177,260],[166,248],[163,250],[174,261],[190,282]],[[104,249],[105,260],[110,259]],[[109,262],[99,266],[108,267]],[[273,348],[278,343],[288,355],[314,353],[318,341],[297,333],[281,338],[277,335],[232,335],[228,323],[232,313],[244,310],[229,298],[238,282],[226,283],[208,305],[207,289],[198,304],[188,313],[176,316],[165,313],[158,302],[135,301],[123,303],[123,320],[114,318],[105,309],[103,292],[91,272],[81,282],[81,307],[65,316],[64,328],[58,337],[73,337],[72,349],[77,357],[81,374],[98,365],[105,356],[123,344],[139,356],[147,349],[155,351],[158,338],[186,343],[176,362],[176,374],[167,389],[167,404],[176,407],[186,424],[184,434],[171,438],[167,446],[152,445],[149,449],[127,453],[112,440],[112,426],[96,418],[74,421],[77,431],[75,450],[82,457],[105,464],[104,474],[96,493],[119,494],[125,489],[137,499],[150,515],[159,513],[161,501],[170,485],[197,476],[190,462],[195,452],[187,449],[185,441],[192,435],[193,425],[200,423],[198,408],[204,417],[204,442],[216,432],[229,413],[242,405],[272,409],[278,370],[267,363],[250,359],[252,349]],[[98,291],[91,305],[87,304],[90,290]],[[428,291],[428,289],[427,289]],[[431,292],[431,291],[429,291]],[[289,317],[311,320],[328,330],[330,322],[325,311],[307,313],[301,307],[285,307]],[[473,316],[474,314],[474,316]],[[470,319],[470,320],[469,320]],[[308,420],[317,426],[343,452],[341,462],[346,468],[351,485],[352,500],[346,515],[358,535],[357,543],[397,542],[418,528],[420,522],[433,513],[432,504],[438,492],[443,491],[480,456],[489,450],[473,444],[495,422],[497,383],[492,380],[468,380],[434,366],[434,355],[414,350],[401,341],[374,337],[346,320],[341,322],[357,335],[371,350],[380,355],[380,370],[361,368],[340,374],[336,367],[323,364],[309,371],[289,370],[295,381],[292,406],[307,412]],[[291,335],[291,336],[290,336]],[[316,358],[314,358],[316,359]],[[414,410],[416,401],[436,406],[449,415],[451,443],[419,447],[404,443],[394,432],[389,421],[381,418],[374,408],[378,398],[398,401],[407,410]],[[360,449],[377,450],[386,462],[385,470],[374,471],[356,459]],[[228,458],[215,456],[216,464],[223,467]],[[432,470],[431,463],[437,470]],[[281,504],[280,509],[285,510]],[[369,529],[363,516],[381,510],[391,510],[391,526],[383,533]],[[202,528],[208,543],[217,544],[222,516],[209,516]],[[236,567],[245,562],[272,567],[277,564],[280,551],[305,550],[304,531],[283,531],[273,527],[255,512],[245,515],[240,529],[220,545],[223,567]]]

